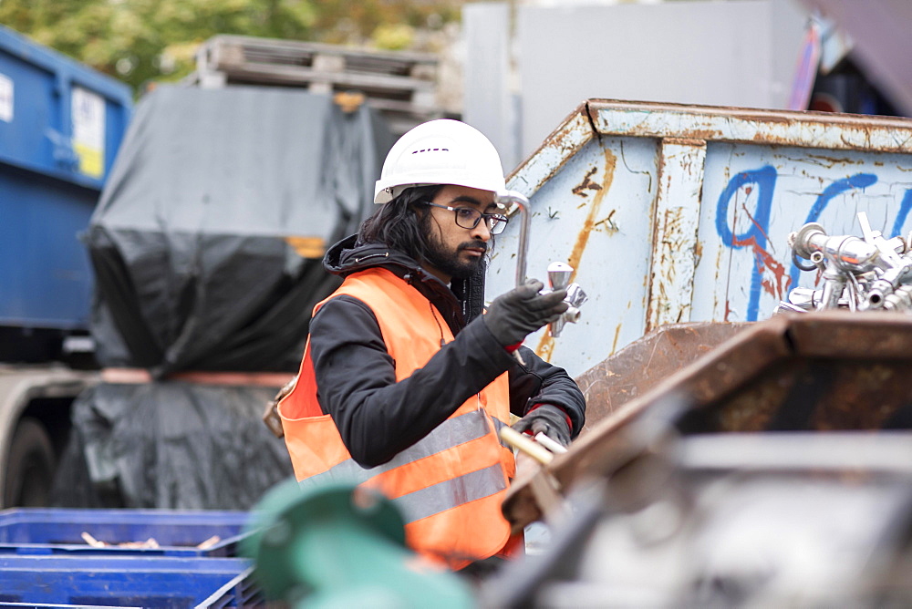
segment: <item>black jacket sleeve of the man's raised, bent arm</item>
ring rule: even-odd
[[[367,468],[424,438],[515,363],[478,318],[396,382],[377,318],[348,295],[327,302],[311,320],[310,354],[320,408],[335,421],[352,459]]]

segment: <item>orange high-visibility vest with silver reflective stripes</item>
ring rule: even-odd
[[[418,290],[383,268],[349,275],[329,298],[348,294],[368,305],[402,380],[453,340],[449,326]],[[305,348],[295,387],[278,404],[285,444],[302,486],[354,481],[383,491],[404,515],[406,542],[452,569],[504,550],[510,525],[501,503],[515,472],[512,450],[498,439],[509,424],[507,374],[472,396],[437,428],[388,463],[364,469],[351,459],[338,429],[316,399]],[[515,538],[511,546],[516,544]],[[505,551],[510,552],[510,551]]]

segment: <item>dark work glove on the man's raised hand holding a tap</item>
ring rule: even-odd
[[[482,319],[498,343],[522,343],[526,335],[556,321],[567,310],[570,305],[564,302],[566,290],[538,294],[543,287],[537,279],[527,279],[525,284],[494,299]]]

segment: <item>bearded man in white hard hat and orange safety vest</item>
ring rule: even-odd
[[[521,431],[565,445],[585,401],[565,371],[520,346],[567,308],[529,281],[482,314],[484,260],[508,222],[500,158],[482,133],[432,120],[389,151],[357,235],[324,259],[342,286],[314,308],[294,389],[279,404],[302,484],[355,480],[403,512],[409,546],[460,569],[518,542],[501,503]],[[524,365],[513,351],[519,349]]]

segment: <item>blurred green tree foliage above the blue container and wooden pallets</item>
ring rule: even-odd
[[[134,89],[177,80],[216,34],[408,48],[463,0],[0,0],[0,23]],[[420,49],[428,50],[428,49]]]

